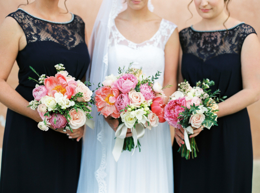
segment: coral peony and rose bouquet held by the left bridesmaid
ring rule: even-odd
[[[55,76],[41,76],[30,66],[31,70],[39,76],[33,90],[34,100],[29,102],[33,110],[38,110],[43,121],[38,124],[38,128],[47,131],[50,125],[55,129],[66,127],[73,132],[83,126],[87,119],[92,118],[91,112],[92,91],[80,80],[68,75],[63,64],[55,65],[57,74]],[[88,85],[90,85],[88,83]]]

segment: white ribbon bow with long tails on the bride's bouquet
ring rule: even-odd
[[[115,142],[115,146],[114,149],[112,151],[112,154],[115,158],[115,161],[117,162],[123,147],[124,147],[124,141],[125,141],[125,137],[127,134],[127,126],[125,126],[125,123],[122,123],[118,126],[117,130],[116,130],[116,142]],[[142,124],[136,124],[135,128],[131,128],[131,132],[132,132],[132,136],[133,136],[133,140],[134,140],[134,150],[133,153],[135,152],[135,147],[137,146],[137,140],[142,138],[144,136],[144,125]],[[132,153],[132,155],[133,155]]]

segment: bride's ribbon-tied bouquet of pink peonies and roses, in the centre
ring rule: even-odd
[[[135,151],[139,147],[139,138],[144,136],[144,128],[151,130],[164,122],[164,93],[162,87],[154,80],[155,76],[146,77],[142,70],[131,68],[118,69],[118,75],[106,76],[102,86],[95,92],[95,104],[98,112],[105,117],[119,118],[116,130],[116,143],[113,155],[118,161],[124,150]],[[132,137],[127,137],[130,128]]]

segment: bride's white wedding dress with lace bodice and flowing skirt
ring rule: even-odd
[[[176,27],[162,19],[159,30],[150,40],[135,44],[118,31],[113,19],[104,59],[107,62],[106,75],[116,75],[119,66],[128,67],[134,62],[133,68],[142,67],[147,76],[155,75],[159,70],[161,76],[158,81],[163,85],[164,48]],[[95,129],[86,130],[77,192],[173,192],[172,146],[168,123],[159,123],[156,128],[146,129],[144,137],[139,141],[141,152],[138,148],[133,155],[132,152],[123,151],[116,162],[112,155],[115,132],[103,116],[98,116]]]

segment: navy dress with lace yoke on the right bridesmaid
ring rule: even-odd
[[[241,49],[255,30],[244,23],[226,30],[183,29],[181,72],[190,85],[208,78],[228,98],[243,89]],[[247,109],[218,118],[218,126],[195,137],[197,158],[185,160],[173,144],[174,193],[251,193],[253,152]]]

